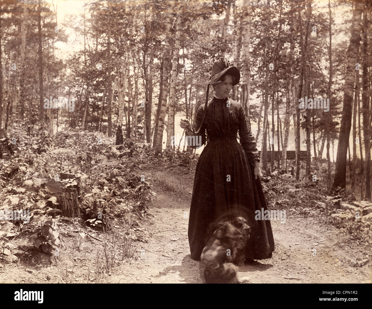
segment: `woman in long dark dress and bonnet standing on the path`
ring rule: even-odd
[[[208,225],[232,208],[247,214],[251,228],[246,261],[271,258],[274,251],[270,221],[254,218],[256,210],[267,209],[256,140],[248,129],[243,106],[228,98],[239,80],[239,70],[219,58],[212,66],[206,104],[199,107],[194,126],[187,119],[180,123],[194,149],[206,142],[205,130],[208,134],[208,143],[196,165],[190,205],[188,236],[194,260],[200,260]],[[209,85],[215,95],[207,103]],[[241,144],[237,142],[238,130]]]

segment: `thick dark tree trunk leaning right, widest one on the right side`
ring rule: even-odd
[[[340,126],[339,144],[337,146],[336,171],[332,190],[337,187],[345,188],[346,186],[346,155],[347,144],[349,142],[353,102],[354,71],[359,53],[361,26],[360,20],[364,2],[356,2],[352,18],[351,38],[349,48],[347,49],[347,67],[346,79],[344,83],[344,101],[342,109],[342,119]]]

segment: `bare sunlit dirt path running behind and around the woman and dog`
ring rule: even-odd
[[[175,172],[177,170],[177,172]],[[157,200],[150,209],[154,224],[153,236],[142,245],[145,251],[136,268],[127,268],[116,282],[138,283],[200,283],[199,262],[190,258],[187,240],[186,213],[189,213],[195,172],[182,169],[155,170],[154,191]],[[165,179],[178,192],[165,191],[159,180]],[[180,191],[180,180],[184,185]],[[354,250],[364,250],[351,244],[331,226],[319,227],[315,219],[304,219],[289,211],[286,223],[272,221],[275,240],[273,258],[261,260],[239,269],[238,278],[252,283],[371,283],[371,263],[363,267],[349,266],[347,258]],[[316,256],[313,249],[316,249]],[[137,264],[138,263],[138,264]],[[128,276],[129,275],[129,276]]]

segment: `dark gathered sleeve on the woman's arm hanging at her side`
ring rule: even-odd
[[[240,143],[247,155],[249,163],[254,165],[254,162],[260,162],[260,156],[257,150],[256,140],[254,139],[251,130],[248,129],[248,124],[246,120],[246,111],[243,105],[239,108],[239,136]]]

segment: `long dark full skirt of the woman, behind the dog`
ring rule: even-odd
[[[255,220],[255,211],[267,210],[259,179],[253,180],[253,166],[237,140],[209,142],[199,157],[189,215],[191,258],[200,260],[208,225],[228,209],[248,213],[250,238],[246,258],[270,258],[274,238],[270,220]]]

